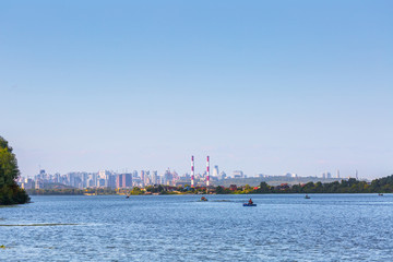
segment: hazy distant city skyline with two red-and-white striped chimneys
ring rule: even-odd
[[[331,172],[325,171],[321,176],[322,181],[341,180],[340,170],[335,178]],[[306,181],[306,180],[321,180],[318,177],[298,177],[297,174],[287,172],[283,176],[271,176],[259,174],[257,177],[247,177],[241,170],[233,171],[231,176],[227,176],[224,171],[219,172],[218,166],[214,166],[210,169],[210,157],[206,157],[206,170],[202,174],[194,172],[194,158],[191,156],[191,174],[184,174],[179,176],[175,170],[167,169],[163,174],[158,174],[156,170],[141,170],[132,172],[115,172],[110,170],[99,170],[97,172],[68,172],[66,175],[60,174],[47,174],[44,169],[39,171],[34,178],[20,178],[19,183],[24,189],[51,189],[61,187],[72,187],[79,189],[86,188],[110,188],[110,189],[129,189],[133,187],[144,188],[147,186],[191,186],[192,187],[210,187],[212,184],[225,186],[231,182],[246,181],[246,183],[260,183],[266,182],[279,182],[279,181]],[[356,179],[358,179],[358,172],[356,170]]]

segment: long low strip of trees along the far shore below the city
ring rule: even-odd
[[[156,195],[156,194],[286,194],[286,193],[393,193],[393,175],[366,181],[349,178],[341,182],[329,183],[308,182],[302,184],[282,183],[281,186],[269,186],[261,182],[259,187],[248,184],[237,187],[233,184],[228,188],[217,187],[172,187],[172,186],[148,186],[145,188],[134,187],[132,189],[109,189],[109,188],[88,188],[88,189],[29,189],[32,195]]]

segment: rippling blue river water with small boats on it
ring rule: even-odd
[[[0,261],[392,261],[393,195],[33,196]]]

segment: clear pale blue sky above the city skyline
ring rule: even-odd
[[[0,2],[22,176],[393,174],[393,2]]]

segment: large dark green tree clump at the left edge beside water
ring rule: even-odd
[[[17,186],[20,176],[15,154],[8,141],[0,136],[0,205],[24,204],[29,202],[26,191]]]

